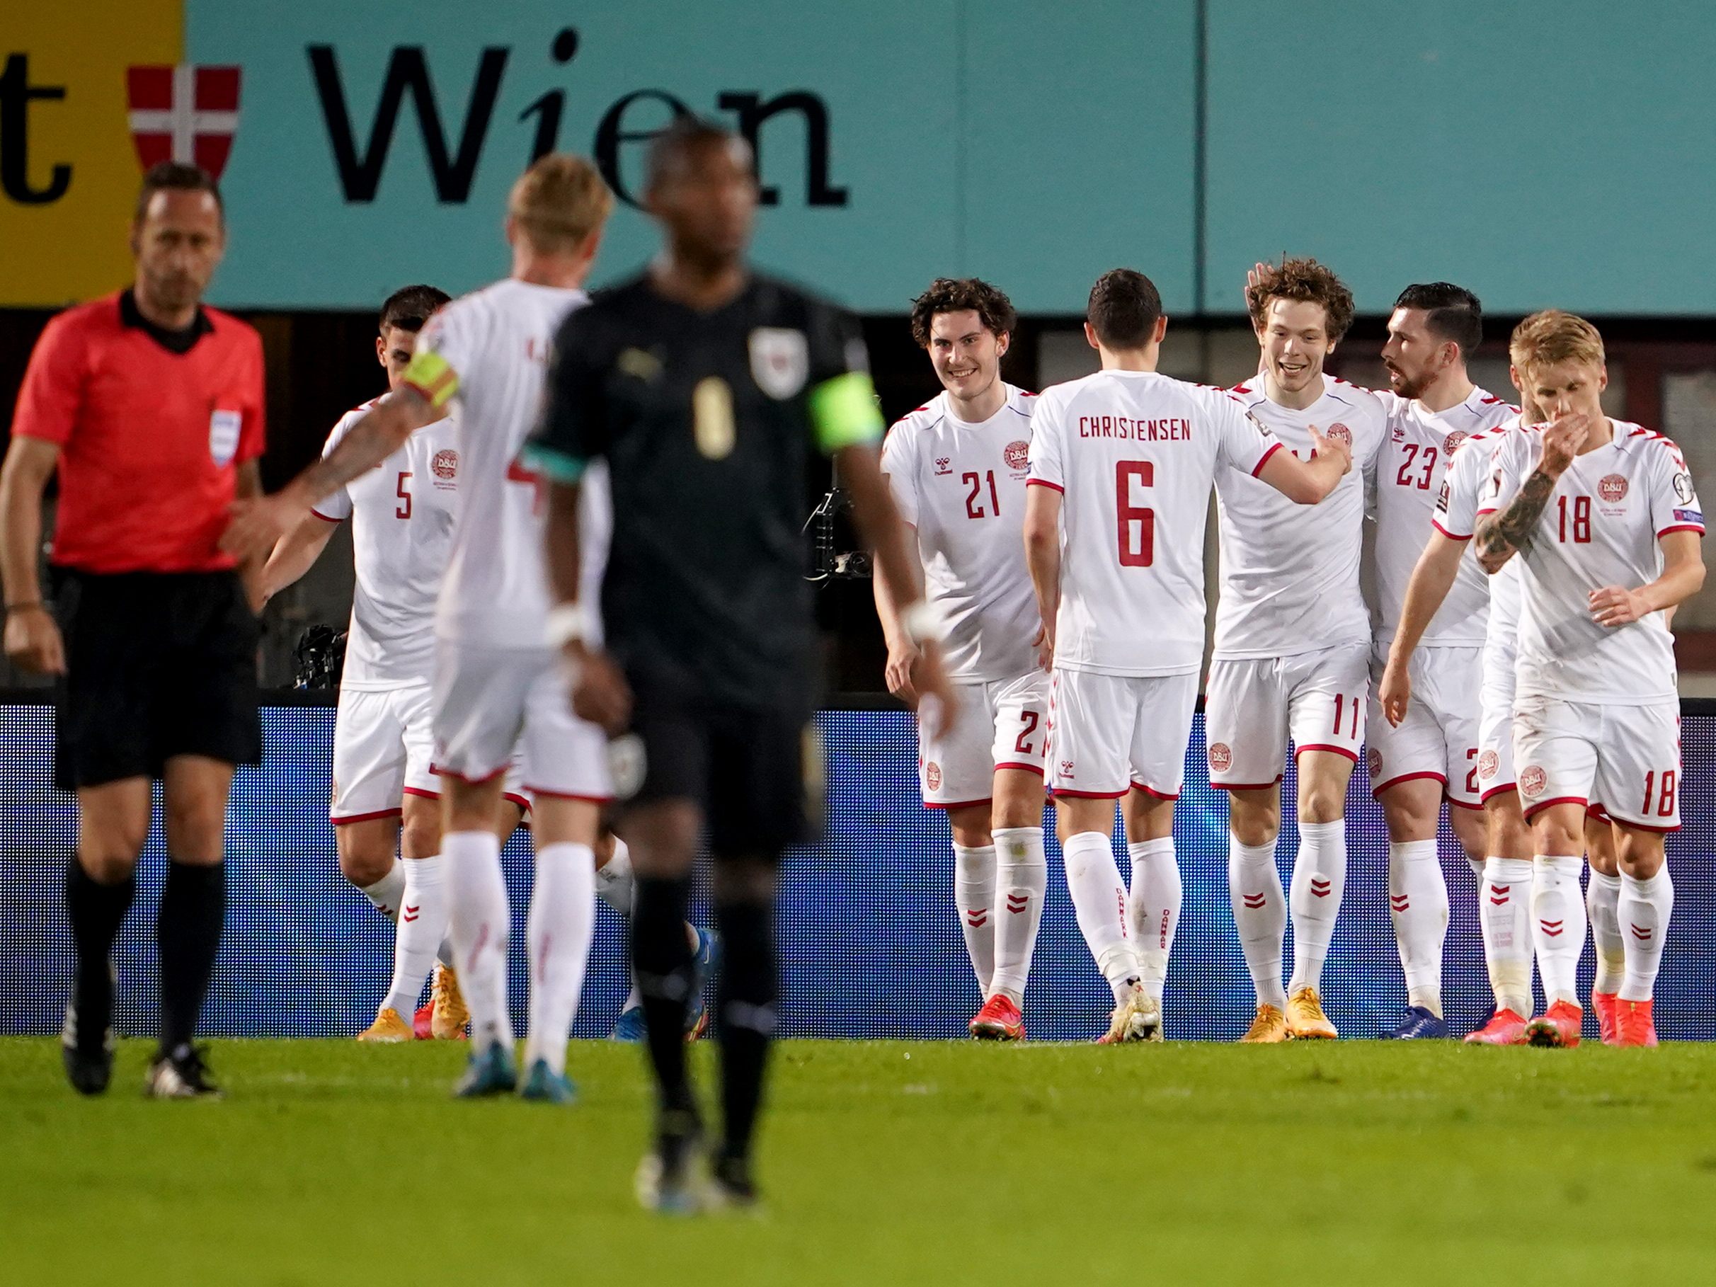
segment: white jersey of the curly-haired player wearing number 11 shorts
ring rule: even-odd
[[[1323,396],[1304,410],[1270,402],[1263,376],[1237,386],[1234,396],[1301,460],[1311,458],[1311,426],[1338,438],[1352,448],[1352,470],[1321,505],[1296,505],[1241,468],[1217,470],[1222,595],[1215,656],[1290,657],[1369,644],[1359,561],[1366,491],[1387,434],[1383,405],[1332,376],[1323,376]]]

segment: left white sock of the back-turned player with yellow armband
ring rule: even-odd
[[[501,843],[492,831],[450,831],[441,837],[446,889],[453,903],[450,937],[458,987],[470,1009],[472,1047],[513,1043],[506,1011],[506,946],[511,911],[501,875]]]

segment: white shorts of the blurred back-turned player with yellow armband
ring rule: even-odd
[[[547,649],[436,640],[434,770],[486,782],[517,753],[532,796],[606,805],[614,796],[607,734],[571,714],[571,690]]]

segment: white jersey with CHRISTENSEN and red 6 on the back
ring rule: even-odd
[[[1203,661],[1203,530],[1225,465],[1280,439],[1225,390],[1098,371],[1043,390],[1031,486],[1064,492],[1055,669],[1182,674]]]

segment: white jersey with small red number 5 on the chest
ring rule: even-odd
[[[340,417],[329,455],[381,398]],[[458,420],[427,424],[376,468],[316,503],[328,522],[352,520],[357,590],[345,642],[341,688],[353,692],[429,683],[434,606],[458,511]]]

